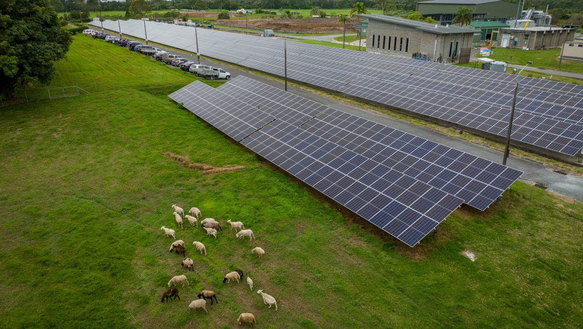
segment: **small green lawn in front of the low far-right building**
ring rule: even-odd
[[[494,48],[493,54],[488,56],[496,61],[504,61],[509,64],[526,65],[526,62],[532,61],[535,68],[559,70],[560,48],[545,50],[522,50],[512,48]],[[563,60],[561,71],[583,73],[583,64],[577,61]]]

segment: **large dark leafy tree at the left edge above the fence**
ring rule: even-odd
[[[65,56],[71,33],[59,23],[48,0],[6,1],[0,14],[0,92],[11,98],[15,90],[48,84],[52,64]]]

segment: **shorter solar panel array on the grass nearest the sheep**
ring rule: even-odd
[[[409,246],[462,203],[484,210],[522,174],[244,76],[168,96]]]

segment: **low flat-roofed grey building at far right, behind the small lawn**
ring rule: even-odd
[[[519,49],[546,49],[562,47],[575,38],[574,27],[525,27],[501,29],[500,47]]]

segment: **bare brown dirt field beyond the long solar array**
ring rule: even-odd
[[[219,19],[213,20],[212,23],[233,27],[245,27],[245,20],[243,19]],[[281,19],[250,19],[247,21],[247,27],[258,30],[269,29],[307,34],[342,33],[342,24],[338,23],[338,18],[284,19],[283,26]]]

